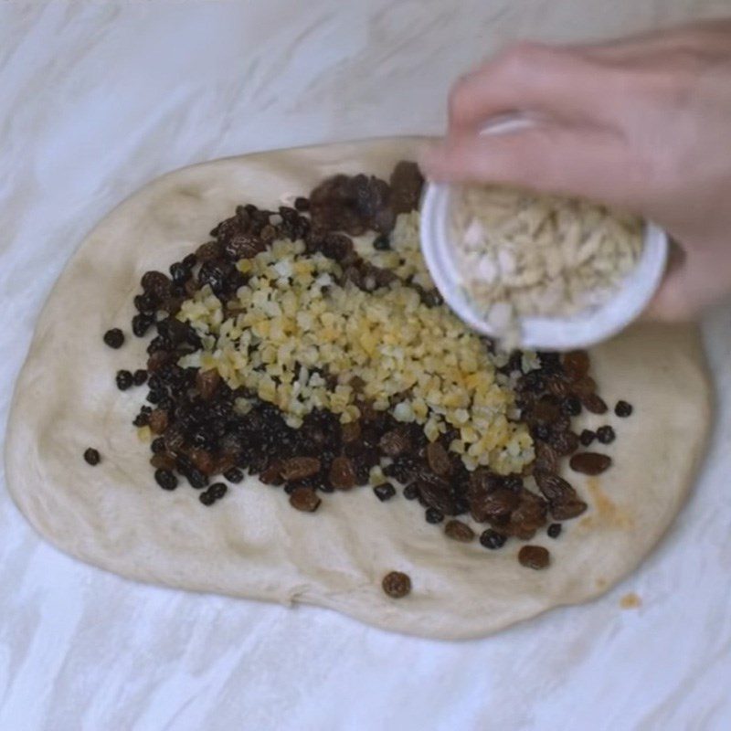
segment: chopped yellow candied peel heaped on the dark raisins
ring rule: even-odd
[[[399,217],[393,245],[376,252],[374,263],[429,286],[418,217]],[[470,469],[508,474],[533,460],[494,356],[447,307],[427,306],[398,280],[372,292],[339,283],[340,265],[305,253],[302,241],[275,241],[237,266],[249,279],[234,302],[221,302],[209,286],[183,302],[178,318],[196,329],[204,350],[180,365],[216,368],[229,387],[280,408],[293,428],[315,408],[355,421],[365,400],[421,425],[429,441],[457,429],[450,450]],[[336,378],[332,388],[328,376]]]

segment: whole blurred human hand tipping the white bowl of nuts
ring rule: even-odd
[[[526,129],[480,135],[495,116]],[[460,79],[435,180],[501,182],[641,214],[680,244],[649,315],[731,292],[731,21],[584,46],[518,43]]]

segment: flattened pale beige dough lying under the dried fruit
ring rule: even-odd
[[[418,141],[376,140],[228,158],[155,180],[114,209],[79,247],[37,323],[16,387],[5,460],[10,491],[37,531],[63,551],[142,581],[336,609],[387,630],[478,637],[562,604],[598,596],[636,567],[680,509],[705,451],[711,389],[695,328],[638,327],[596,350],[593,375],[634,415],[613,423],[614,466],[570,477],[590,505],[558,540],[536,536],[552,566],[534,571],[510,541],[486,551],[425,523],[416,502],[380,503],[368,488],[325,495],[316,514],[291,509],[281,489],[248,479],[204,508],[183,485],[160,490],[131,421],[145,389],[121,392],[114,374],[139,367],[146,340],[129,334],[145,270],[207,240],[239,203],[273,207],[326,175],[387,175]],[[128,333],[121,350],[101,341]],[[81,455],[101,451],[97,467]],[[380,587],[407,572],[406,599]]]

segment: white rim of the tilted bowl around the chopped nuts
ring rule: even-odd
[[[521,122],[503,122],[485,132],[514,131]],[[465,296],[449,238],[450,185],[426,185],[421,201],[421,250],[429,273],[444,301],[472,329],[494,335],[489,323]],[[573,350],[606,340],[635,320],[652,300],[668,256],[668,238],[662,228],[645,225],[644,246],[637,266],[621,282],[616,294],[602,305],[572,317],[521,318],[521,346],[535,350]]]

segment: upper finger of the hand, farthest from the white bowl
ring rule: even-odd
[[[450,133],[479,131],[495,115],[528,112],[599,120],[611,112],[613,80],[579,53],[535,43],[509,48],[462,77],[450,94]]]

